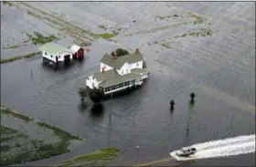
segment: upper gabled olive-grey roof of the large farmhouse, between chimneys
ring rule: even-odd
[[[144,60],[143,55],[141,53],[136,53],[136,52],[129,55],[117,57],[116,59],[114,59],[112,56],[108,54],[105,54],[101,58],[101,63],[104,63],[112,68],[120,69],[123,67],[124,63],[133,64],[143,60]]]

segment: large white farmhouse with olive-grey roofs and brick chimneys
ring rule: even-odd
[[[148,78],[148,72],[144,67],[144,57],[136,48],[135,53],[121,57],[104,55],[100,71],[86,78],[85,82],[90,89],[101,89],[105,94],[111,94],[142,85],[145,78]]]

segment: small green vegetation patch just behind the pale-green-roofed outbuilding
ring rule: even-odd
[[[51,35],[49,37],[44,37],[42,34],[34,32],[33,35],[27,35],[29,37],[33,44],[46,44],[48,42],[56,41],[59,39],[59,37],[55,37],[54,35]]]

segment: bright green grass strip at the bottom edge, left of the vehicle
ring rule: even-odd
[[[74,157],[71,160],[61,162],[53,166],[71,166],[71,165],[103,165],[112,161],[118,156],[120,150],[116,148],[105,148],[89,154]]]

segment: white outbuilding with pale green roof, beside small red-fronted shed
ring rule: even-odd
[[[74,50],[68,47],[62,47],[59,44],[48,43],[39,47],[42,51],[42,57],[44,61],[49,61],[58,65],[59,62],[69,62],[73,58]]]

